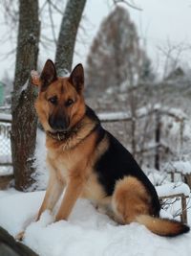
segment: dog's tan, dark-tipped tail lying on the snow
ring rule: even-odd
[[[160,219],[148,215],[139,215],[136,221],[145,225],[151,232],[159,236],[175,237],[190,230],[189,226],[180,221]]]

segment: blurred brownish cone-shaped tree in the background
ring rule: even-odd
[[[127,10],[117,6],[102,22],[87,58],[88,93],[138,84],[143,57],[136,26]]]

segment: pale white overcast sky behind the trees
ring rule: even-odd
[[[41,0],[42,1],[42,0]],[[128,8],[131,19],[137,24],[138,35],[141,43],[147,49],[147,53],[152,58],[155,68],[161,70],[162,59],[159,55],[158,47],[167,45],[167,40],[172,45],[189,46],[191,43],[191,0],[135,0],[134,3],[142,9],[141,12]],[[127,6],[126,6],[127,7]],[[81,30],[78,36],[74,65],[77,62],[85,64],[85,59],[89,51],[90,44],[96,35],[96,31],[102,19],[113,9],[112,0],[87,0],[85,8],[85,19],[82,23],[84,31]],[[57,32],[59,29],[60,15],[56,15]],[[2,17],[0,17],[2,24]],[[0,25],[1,26],[1,25]],[[6,27],[0,30],[0,38],[5,36]],[[51,34],[46,29],[46,34]],[[14,56],[4,58],[10,52],[15,43],[7,41],[2,44],[0,41],[0,80],[5,71],[12,77],[14,74]],[[54,58],[54,49],[45,51],[40,49],[40,62],[44,63],[47,58]],[[184,64],[190,66],[191,54],[186,50],[181,56]]]

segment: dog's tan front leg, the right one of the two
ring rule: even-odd
[[[80,178],[71,178],[67,184],[64,198],[60,209],[55,217],[55,221],[67,220],[76,199],[80,196],[83,188],[83,181]]]

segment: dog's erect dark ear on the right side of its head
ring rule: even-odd
[[[78,64],[74,67],[74,70],[71,73],[69,81],[74,85],[74,88],[78,93],[80,93],[83,90],[84,70],[82,64]]]

